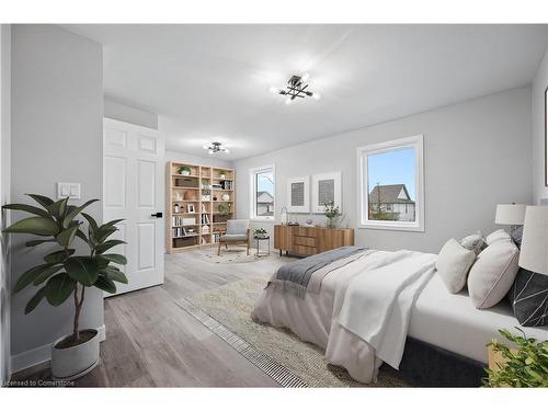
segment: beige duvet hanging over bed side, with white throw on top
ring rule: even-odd
[[[435,254],[372,252],[329,273],[319,294],[299,298],[266,288],[252,316],[326,349],[329,363],[370,383],[383,361],[398,368],[412,304],[434,264]]]

